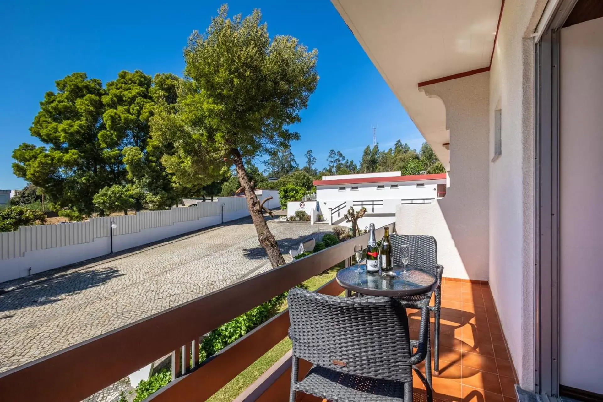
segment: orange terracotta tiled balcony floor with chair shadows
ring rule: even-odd
[[[416,339],[420,314],[409,310],[408,315]],[[434,400],[515,402],[516,383],[490,287],[444,278],[440,372],[433,374]],[[417,377],[414,387],[415,400],[425,400],[421,395],[425,388]]]

